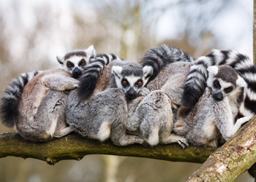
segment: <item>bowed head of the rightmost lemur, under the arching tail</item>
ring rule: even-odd
[[[236,95],[246,87],[246,82],[230,66],[210,66],[207,86],[211,87],[214,100],[221,101],[228,95]],[[236,98],[236,97],[235,97]]]

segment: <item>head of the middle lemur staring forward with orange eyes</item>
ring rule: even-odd
[[[125,92],[127,99],[138,97],[141,88],[145,86],[153,74],[151,66],[144,68],[138,63],[125,63],[121,66],[113,66],[112,74],[115,76],[116,86]]]

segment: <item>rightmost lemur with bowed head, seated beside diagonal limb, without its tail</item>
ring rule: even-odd
[[[178,109],[174,132],[194,146],[218,147],[247,122],[236,121],[247,84],[230,66],[210,66],[207,70],[208,87],[189,113],[184,106]]]

